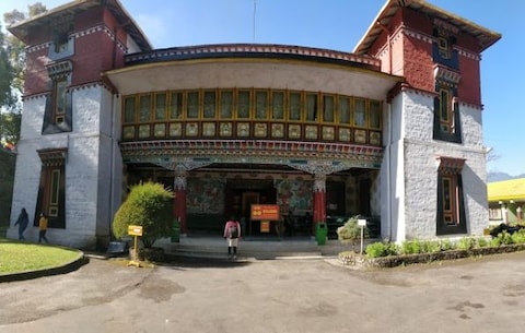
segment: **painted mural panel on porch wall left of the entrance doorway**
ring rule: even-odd
[[[222,214],[224,182],[220,179],[188,178],[186,205],[188,214]]]

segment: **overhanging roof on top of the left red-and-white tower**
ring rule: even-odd
[[[19,22],[8,27],[8,29],[16,36],[20,40],[27,44],[27,37],[31,28],[39,28],[47,26],[52,22],[63,20],[67,16],[84,12],[89,9],[98,5],[106,5],[115,15],[118,23],[126,29],[137,45],[143,50],[149,51],[152,46],[139,25],[135,22],[131,15],[126,11],[118,0],[77,0],[60,7],[54,8],[49,11]]]

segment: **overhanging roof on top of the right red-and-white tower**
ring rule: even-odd
[[[474,8],[476,4],[472,3],[471,5]],[[372,24],[364,36],[353,49],[353,52],[357,55],[368,53],[374,41],[383,33],[383,27],[381,25],[388,26],[397,11],[399,11],[402,7],[410,8],[430,17],[440,19],[456,26],[459,28],[459,31],[474,36],[478,40],[480,52],[486,50],[501,38],[501,34],[492,32],[471,21],[430,4],[424,0],[387,0],[377,16],[372,21]],[[381,25],[377,23],[381,23]]]

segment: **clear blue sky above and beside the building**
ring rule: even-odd
[[[27,12],[36,0],[0,0],[0,13]],[[40,0],[46,8],[68,0]],[[351,52],[385,0],[120,0],[153,48],[262,43]],[[430,3],[500,33],[481,55],[483,144],[489,173],[525,174],[525,38],[523,0],[431,0]],[[3,27],[3,22],[2,22]]]

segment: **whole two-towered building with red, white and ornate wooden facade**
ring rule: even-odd
[[[13,212],[47,212],[63,243],[90,247],[127,188],[154,180],[187,235],[232,215],[259,235],[252,204],[278,205],[290,235],[357,214],[395,241],[480,234],[479,62],[501,36],[424,1],[386,1],[372,22],[353,52],[153,49],[116,0],[11,26],[28,69]]]

